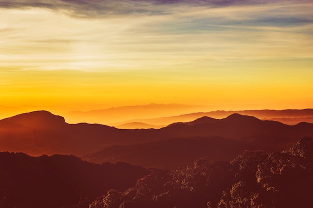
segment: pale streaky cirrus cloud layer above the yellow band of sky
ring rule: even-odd
[[[27,70],[187,68],[219,64],[203,60],[307,58],[310,5],[308,0],[0,1],[0,57],[2,64],[30,64]]]

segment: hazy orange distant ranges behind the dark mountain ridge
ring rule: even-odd
[[[277,120],[293,125],[300,121],[313,122],[313,109],[283,110],[216,110],[207,111],[210,106],[189,104],[150,103],[95,109],[70,111],[64,114],[69,123],[101,123],[118,128],[161,128],[173,122],[188,122],[202,116],[224,118],[233,113],[251,115],[262,120]]]

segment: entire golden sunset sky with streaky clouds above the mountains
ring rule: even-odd
[[[0,0],[0,117],[312,108],[311,0]]]

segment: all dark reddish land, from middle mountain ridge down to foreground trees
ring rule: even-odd
[[[0,207],[306,207],[311,137],[239,113],[159,129],[23,113],[0,120]]]

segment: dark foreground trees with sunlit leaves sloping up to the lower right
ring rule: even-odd
[[[125,191],[111,189],[90,208],[264,208],[313,204],[313,139],[286,151],[245,151],[230,162],[155,170]]]

